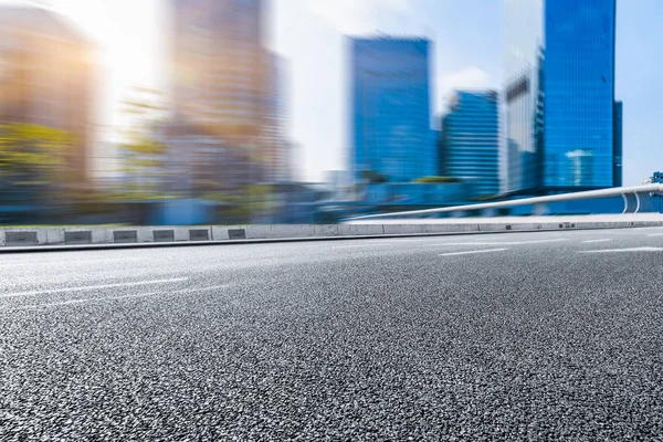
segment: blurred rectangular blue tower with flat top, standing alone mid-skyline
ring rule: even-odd
[[[350,134],[355,180],[435,175],[425,39],[351,39]]]

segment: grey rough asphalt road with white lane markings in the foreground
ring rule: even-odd
[[[0,255],[0,440],[663,439],[663,229]]]

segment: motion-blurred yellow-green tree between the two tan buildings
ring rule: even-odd
[[[123,103],[120,129],[123,193],[135,199],[156,198],[164,190],[164,129],[166,107],[158,91],[136,86]]]

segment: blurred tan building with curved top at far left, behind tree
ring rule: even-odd
[[[38,7],[0,6],[0,122],[72,136],[70,185],[92,176],[96,48],[65,17]]]

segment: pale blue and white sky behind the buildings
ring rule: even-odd
[[[3,2],[11,0],[0,0]],[[14,1],[15,2],[15,1]],[[39,0],[34,0],[39,2]],[[41,0],[99,48],[101,106],[134,84],[167,88],[165,0]],[[433,41],[433,115],[453,88],[501,88],[504,0],[272,0],[269,45],[288,63],[290,131],[301,178],[320,180],[348,157],[348,34]],[[663,1],[618,0],[617,98],[624,103],[624,185],[663,170]],[[115,119],[114,119],[115,118]]]

